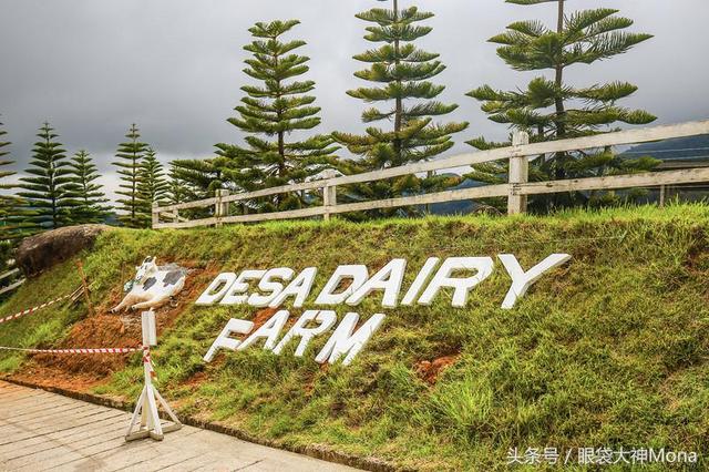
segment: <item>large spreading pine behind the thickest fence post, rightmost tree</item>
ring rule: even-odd
[[[623,30],[633,21],[618,17],[618,10],[599,8],[568,14],[565,0],[506,0],[507,3],[535,6],[555,3],[556,28],[541,21],[517,21],[507,31],[490,39],[500,44],[497,55],[517,71],[549,70],[552,79],[537,76],[525,90],[499,91],[490,85],[480,86],[467,95],[483,102],[481,109],[491,121],[507,124],[513,130],[530,133],[531,142],[543,142],[586,136],[613,131],[615,123],[647,124],[655,116],[641,110],[628,110],[617,101],[631,95],[637,86],[627,82],[609,82],[577,88],[564,81],[564,72],[576,64],[593,64],[629,51],[634,45],[651,38],[650,34]],[[467,142],[479,150],[505,146],[482,137]],[[595,152],[556,153],[542,155],[531,162],[532,181],[587,177],[613,173],[647,171],[657,165],[648,157],[621,158],[610,148]],[[506,163],[473,166],[467,177],[485,182],[506,182]],[[613,194],[600,198],[613,199]],[[598,196],[595,196],[598,201]],[[582,193],[537,196],[531,206],[537,211],[569,204],[588,203]]]

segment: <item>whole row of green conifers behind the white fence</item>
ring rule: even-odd
[[[259,22],[249,29],[253,41],[244,47],[249,53],[244,73],[251,79],[242,86],[243,98],[228,122],[240,130],[240,144],[218,143],[214,156],[203,160],[177,160],[167,172],[150,144],[141,138],[137,125],[130,126],[125,141],[117,146],[112,163],[120,176],[116,206],[109,206],[92,156],[80,151],[68,157],[58,133],[44,123],[38,133],[32,157],[17,185],[7,184],[12,172],[0,171],[2,188],[16,188],[12,196],[0,199],[3,247],[28,234],[65,225],[104,222],[117,212],[120,224],[148,227],[151,206],[183,203],[214,196],[215,191],[250,192],[317,178],[326,170],[352,174],[428,161],[453,145],[453,136],[469,123],[446,122],[444,116],[455,103],[439,100],[445,85],[436,76],[445,70],[440,55],[420,49],[418,42],[430,34],[425,21],[433,13],[414,6],[402,7],[400,0],[378,0],[386,8],[372,8],[357,14],[364,23],[364,39],[372,49],[353,57],[366,68],[354,73],[368,84],[347,92],[369,107],[361,120],[368,124],[363,134],[345,131],[322,133],[320,106],[310,93],[316,83],[305,76],[309,58],[298,51],[306,43],[285,39],[299,24],[297,20]],[[481,110],[510,132],[525,131],[533,142],[585,136],[612,131],[615,123],[647,124],[655,120],[641,110],[629,110],[618,101],[637,88],[627,82],[572,85],[565,72],[576,64],[592,64],[623,54],[651,38],[625,30],[633,21],[619,17],[618,10],[599,8],[565,11],[564,0],[506,0],[534,6],[554,3],[556,24],[542,21],[516,21],[505,32],[490,39],[499,45],[497,55],[516,71],[549,71],[525,88],[502,91],[482,85],[469,96],[482,103]],[[0,168],[8,168],[9,142],[0,124]],[[508,145],[476,137],[470,145],[486,150]],[[340,158],[347,147],[354,160]],[[650,158],[620,158],[612,150],[567,152],[544,155],[531,167],[534,181],[604,175],[651,168]],[[340,198],[362,201],[392,198],[459,185],[470,178],[484,183],[506,181],[502,163],[473,166],[463,176],[404,176],[383,182],[351,185]],[[4,183],[2,183],[4,182]],[[608,198],[607,195],[599,198]],[[495,205],[501,202],[490,201]],[[588,204],[579,193],[541,196],[532,201],[538,211]],[[275,195],[244,202],[235,212],[271,212],[321,204],[315,192]],[[414,214],[415,208],[381,211],[360,217],[387,216],[392,212]]]

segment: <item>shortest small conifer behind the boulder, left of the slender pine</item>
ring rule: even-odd
[[[71,177],[65,189],[72,223],[103,223],[109,211],[104,204],[109,199],[104,197],[102,186],[95,183],[100,175],[91,155],[86,151],[79,151],[69,168]]]

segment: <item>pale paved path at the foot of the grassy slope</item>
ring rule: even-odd
[[[3,471],[354,471],[184,427],[126,443],[130,414],[0,381]]]

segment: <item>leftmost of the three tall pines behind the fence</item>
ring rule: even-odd
[[[217,144],[213,160],[225,181],[235,189],[256,191],[304,182],[336,165],[338,150],[326,135],[306,135],[320,124],[320,107],[315,106],[314,81],[296,78],[308,72],[309,58],[294,51],[305,41],[282,41],[281,37],[299,24],[297,20],[256,23],[249,29],[255,38],[244,49],[251,53],[245,61],[246,73],[258,85],[245,85],[246,96],[236,106],[238,117],[228,120],[247,134],[246,146]],[[304,136],[290,141],[291,133]],[[260,211],[286,209],[307,205],[312,196],[276,195],[250,205]]]

